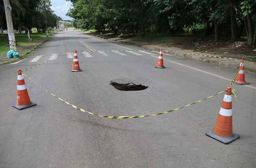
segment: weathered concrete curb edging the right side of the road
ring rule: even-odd
[[[108,39],[106,37],[102,37],[100,35],[93,35],[93,36],[100,37],[100,38],[103,38],[103,39],[106,39],[106,40],[111,40],[111,39]],[[112,40],[112,41],[117,41],[117,40]],[[131,44],[131,45],[135,45],[135,46],[139,46],[139,47],[143,47],[145,49],[159,50],[159,49],[156,49],[156,48],[153,48],[153,47],[144,46],[144,45],[140,45],[140,44],[136,44],[136,43],[132,43],[132,42],[126,42],[126,41],[119,41],[119,42],[120,43]],[[239,68],[239,63],[240,63],[240,60],[237,60],[237,62],[238,62],[237,65],[232,65],[232,64],[229,64],[227,62],[219,61],[218,58],[213,58],[213,59],[202,58],[202,57],[198,57],[198,56],[193,56],[191,54],[177,53],[177,52],[168,51],[168,50],[164,50],[164,52],[167,52],[167,53],[172,54],[172,55],[177,55],[177,56],[182,56],[182,57],[202,61],[202,62],[207,62],[207,63],[218,65],[218,66],[221,66],[221,67],[231,68],[231,69],[238,69]],[[246,72],[256,73],[256,69],[246,67]]]

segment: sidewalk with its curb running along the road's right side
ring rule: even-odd
[[[219,55],[203,53],[203,52],[194,52],[192,50],[184,50],[184,49],[180,49],[180,48],[176,48],[176,47],[152,45],[152,44],[145,43],[145,42],[132,41],[129,38],[127,38],[127,39],[122,39],[119,37],[110,38],[110,36],[108,34],[102,35],[102,36],[96,35],[96,34],[90,34],[90,33],[88,33],[88,34],[97,36],[97,37],[101,37],[104,39],[112,40],[112,41],[118,41],[118,42],[122,42],[122,43],[141,46],[141,47],[144,47],[145,49],[150,49],[150,50],[160,50],[160,48],[163,48],[164,52],[167,52],[167,53],[170,53],[173,55],[187,57],[190,59],[195,59],[198,61],[203,61],[203,62],[219,65],[222,67],[228,67],[228,68],[232,68],[232,69],[238,69],[240,66],[240,62],[241,62],[240,58],[238,58],[237,60],[236,59],[213,58],[213,57],[207,57],[207,56],[201,56],[201,55],[211,55],[211,56],[216,56],[216,57],[218,57]],[[185,53],[179,53],[179,52],[185,52]],[[198,55],[194,55],[194,54],[198,54]],[[227,55],[226,57],[232,58],[231,55]],[[256,62],[251,62],[251,61],[245,60],[245,71],[250,72],[250,73],[256,73]]]

